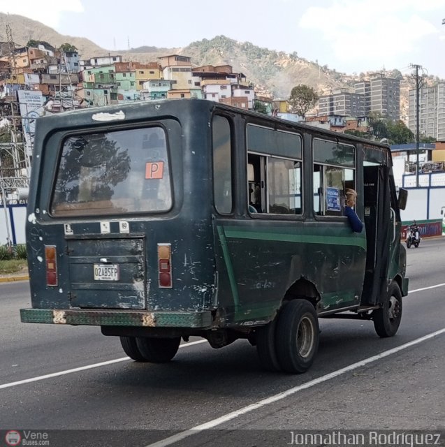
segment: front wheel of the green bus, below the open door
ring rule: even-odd
[[[372,312],[372,320],[379,337],[393,337],[397,332],[402,320],[402,293],[395,281],[389,286],[382,307]]]

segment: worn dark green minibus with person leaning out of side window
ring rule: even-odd
[[[41,117],[21,320],[100,326],[138,362],[247,339],[263,368],[302,373],[319,318],[397,332],[406,201],[387,145],[214,101]]]

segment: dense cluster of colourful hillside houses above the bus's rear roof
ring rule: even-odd
[[[0,98],[12,98],[16,90],[42,91],[47,99],[72,91],[80,107],[161,98],[207,98],[211,101],[254,108],[254,87],[232,67],[193,67],[191,58],[179,54],[141,64],[122,56],[79,60],[75,52],[17,48],[0,57]],[[228,98],[235,97],[235,101]]]

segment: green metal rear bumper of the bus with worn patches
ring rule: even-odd
[[[96,309],[20,309],[22,323],[133,326],[141,328],[199,328],[212,326],[206,312],[148,312]]]

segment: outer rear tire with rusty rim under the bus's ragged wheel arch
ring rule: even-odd
[[[279,312],[275,349],[279,365],[293,374],[306,372],[319,349],[319,320],[307,300],[292,300]]]

